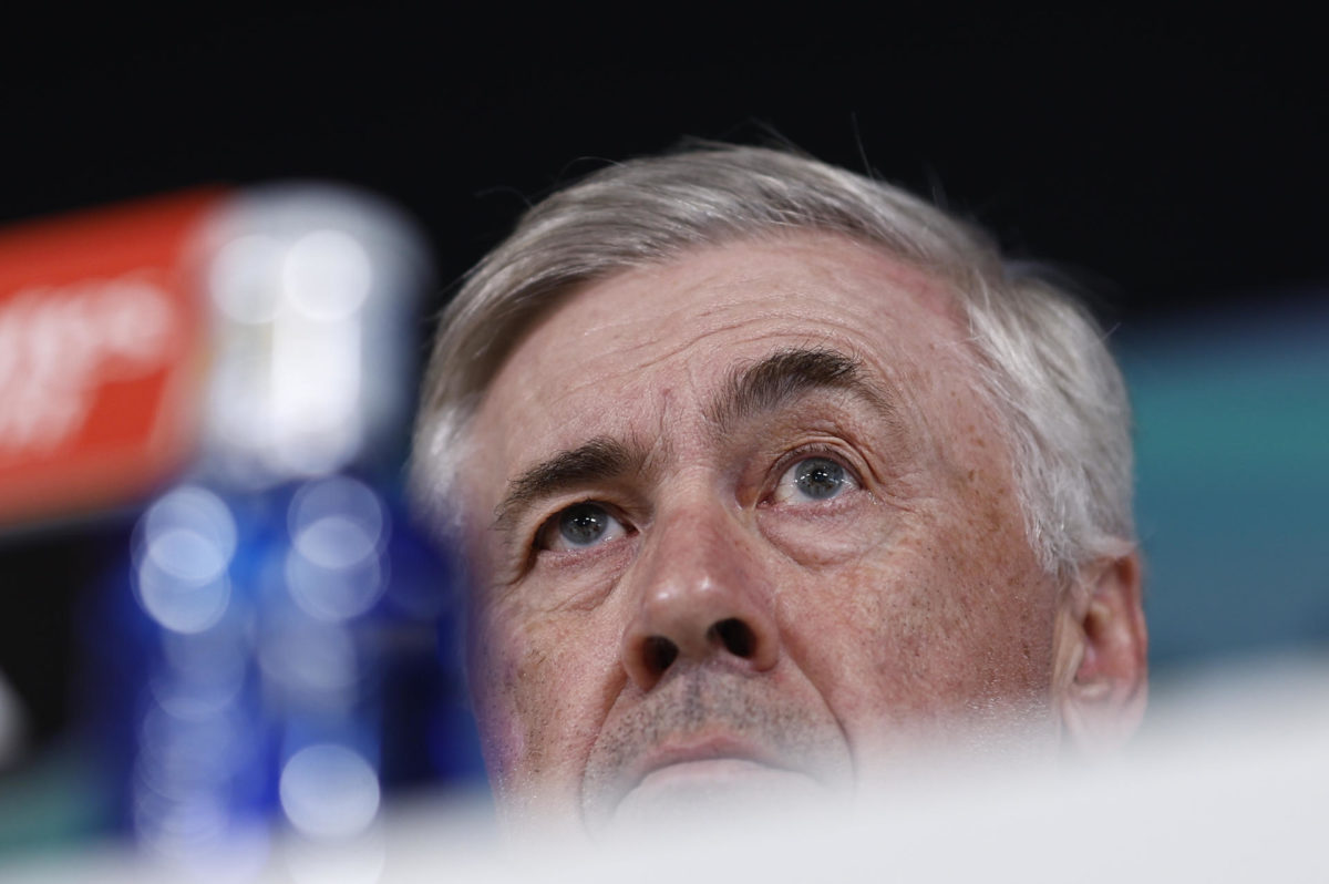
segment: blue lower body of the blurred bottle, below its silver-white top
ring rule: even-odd
[[[278,818],[351,837],[385,790],[480,782],[452,569],[360,479],[181,485],[128,558],[84,629],[118,824],[154,853],[262,849]]]

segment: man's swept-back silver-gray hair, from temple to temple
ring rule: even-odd
[[[890,185],[767,148],[703,146],[609,166],[529,209],[448,304],[411,484],[436,528],[465,428],[517,336],[571,286],[700,246],[836,233],[946,280],[1013,459],[1029,542],[1071,577],[1134,541],[1130,407],[1090,314],[982,231]],[[455,526],[455,525],[453,525]]]

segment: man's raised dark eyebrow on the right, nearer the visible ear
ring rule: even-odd
[[[861,363],[824,347],[780,350],[736,368],[711,403],[708,416],[722,428],[777,411],[813,389],[843,389],[867,400],[892,424],[898,412],[885,389],[864,376]]]

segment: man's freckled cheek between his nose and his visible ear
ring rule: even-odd
[[[906,720],[1027,707],[1050,685],[1053,614],[1041,574],[1009,568],[1019,556],[994,556],[966,522],[902,538],[784,594],[791,653],[863,739]]]

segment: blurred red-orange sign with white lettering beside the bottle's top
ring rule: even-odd
[[[191,453],[205,307],[191,193],[0,231],[0,524],[114,505]]]

